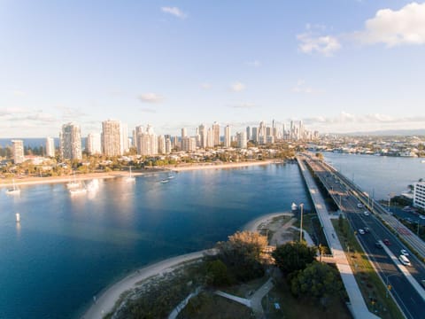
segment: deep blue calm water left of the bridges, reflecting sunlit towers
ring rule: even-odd
[[[309,206],[293,164],[165,176],[100,180],[73,198],[62,183],[0,189],[0,318],[76,317],[135,268],[212,247],[292,201]]]

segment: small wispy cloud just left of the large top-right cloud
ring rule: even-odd
[[[317,35],[308,29],[308,32],[297,35],[298,49],[304,53],[320,53],[325,57],[332,57],[333,54],[341,49],[336,36]]]

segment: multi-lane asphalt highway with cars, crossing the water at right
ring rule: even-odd
[[[319,159],[314,159],[311,156],[304,159],[305,163],[313,169],[314,175],[319,177],[328,193],[334,198],[339,209],[344,212],[352,230],[357,232],[360,244],[373,262],[377,273],[383,279],[383,283],[390,284],[390,293],[406,317],[425,318],[425,290],[419,284],[421,280],[425,279],[425,266],[411,252],[409,252],[408,259],[412,266],[402,266],[398,261],[400,250],[407,250],[407,248],[376,217],[376,215],[382,216],[388,213],[386,211],[381,212],[380,209],[383,209],[383,207],[376,204],[374,209],[371,209],[373,212],[371,213],[371,210],[364,206],[365,203],[370,204],[370,198],[364,195],[357,185],[352,185],[344,175],[332,170]],[[366,211],[367,214],[365,214]],[[398,232],[402,232],[398,236],[412,237],[398,225],[392,226],[396,227]],[[367,231],[361,234],[359,230]],[[384,245],[383,241],[389,243],[389,245]],[[413,240],[413,242],[416,243],[416,240]]]

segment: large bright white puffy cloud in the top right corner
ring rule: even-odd
[[[354,33],[361,43],[425,44],[425,3],[406,4],[399,11],[382,9],[368,19],[365,30]]]

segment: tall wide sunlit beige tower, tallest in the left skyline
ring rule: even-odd
[[[122,155],[120,121],[102,122],[102,153],[106,156]]]

